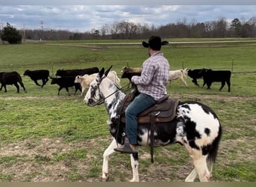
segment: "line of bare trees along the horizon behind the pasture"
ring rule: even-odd
[[[6,27],[10,28],[12,26],[7,23]],[[1,38],[4,35],[3,31],[0,32]],[[231,22],[228,22],[225,18],[207,22],[197,22],[192,19],[191,22],[187,22],[184,18],[175,23],[160,26],[120,21],[109,25],[105,24],[100,28],[93,28],[91,31],[85,32],[54,29],[18,31],[23,40],[144,39],[151,35],[159,35],[165,38],[256,37],[256,16],[242,21],[235,18]]]

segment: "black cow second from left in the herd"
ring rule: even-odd
[[[48,82],[48,77],[49,77],[49,70],[25,70],[25,73],[23,76],[29,76],[32,81],[37,86],[41,86],[43,88],[44,85],[46,85],[46,82]],[[42,80],[43,84],[39,85],[37,80]]]

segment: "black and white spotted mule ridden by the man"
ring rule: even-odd
[[[109,156],[115,152],[114,148],[120,146],[122,134],[125,132],[125,123],[116,123],[118,110],[121,108],[126,96],[117,86],[108,79],[104,68],[100,70],[96,79],[91,82],[90,88],[85,95],[86,105],[94,106],[104,99],[106,110],[109,113],[109,131],[114,137],[112,143],[103,154],[103,180],[109,177]],[[138,125],[138,144],[148,146],[150,138],[154,134],[154,145],[165,146],[166,144],[180,143],[186,147],[192,158],[194,169],[186,177],[185,181],[194,181],[199,177],[200,181],[210,180],[210,172],[216,160],[219,141],[222,135],[222,126],[216,114],[206,105],[200,102],[180,102],[177,106],[177,116],[171,123],[156,123],[153,132],[148,125]],[[130,155],[132,165],[132,180],[138,182],[138,153]],[[208,168],[209,167],[209,168]]]

